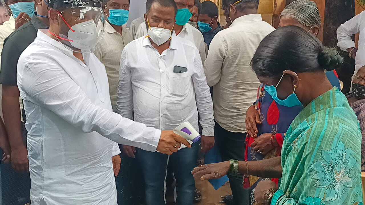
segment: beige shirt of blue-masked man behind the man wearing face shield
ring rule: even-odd
[[[105,22],[105,32],[103,39],[96,46],[94,54],[104,64],[108,75],[109,93],[113,112],[116,112],[116,93],[119,81],[120,56],[124,46],[132,41],[132,36],[128,29],[122,26],[122,35]]]

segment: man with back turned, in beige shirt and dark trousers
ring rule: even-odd
[[[274,30],[257,13],[258,0],[223,0],[222,8],[232,24],[216,34],[204,63],[205,76],[213,86],[215,134],[222,160],[245,160],[246,110],[255,101],[260,85],[250,61],[261,40]],[[219,141],[218,141],[219,140]],[[248,203],[242,176],[231,176],[235,205]]]

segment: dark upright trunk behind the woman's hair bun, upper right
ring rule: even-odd
[[[323,45],[337,46],[337,28],[355,16],[354,0],[327,0],[324,7]],[[341,50],[341,49],[338,49]],[[355,70],[355,61],[350,59],[348,53],[341,51],[345,61],[337,68],[339,80],[344,84],[342,92],[350,90],[351,76]]]

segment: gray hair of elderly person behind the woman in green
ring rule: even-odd
[[[280,17],[289,17],[297,20],[301,25],[306,27],[317,26],[320,28],[320,15],[317,4],[311,0],[296,0],[289,4]]]

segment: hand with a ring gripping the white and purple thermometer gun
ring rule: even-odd
[[[172,154],[177,152],[177,149],[184,144],[187,147],[191,147],[191,144],[182,136],[175,134],[172,130],[162,130],[160,141],[157,145],[157,151],[162,154]]]

